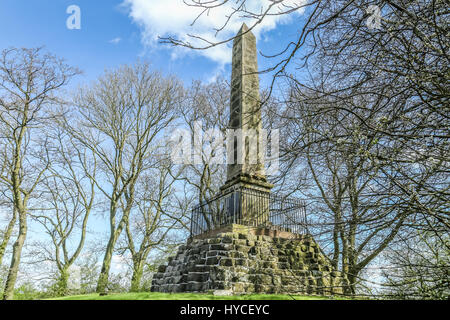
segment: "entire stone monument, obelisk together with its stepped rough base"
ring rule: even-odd
[[[223,201],[216,206],[222,211],[208,209],[209,215],[220,218],[207,229],[193,232],[191,227],[187,244],[154,275],[152,291],[322,295],[343,291],[344,279],[314,239],[294,231],[300,230],[295,225],[279,226],[289,220],[280,215],[290,215],[286,210],[290,205],[273,205],[273,185],[264,171],[257,71],[256,39],[243,24],[233,43],[229,126],[236,131],[227,137],[233,141],[227,181],[221,195],[211,201]],[[201,208],[199,217],[207,219],[205,206]],[[192,224],[194,220],[193,215]]]

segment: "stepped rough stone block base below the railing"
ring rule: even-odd
[[[330,295],[342,293],[343,283],[310,236],[283,239],[234,232],[180,247],[168,265],[160,266],[151,290]]]

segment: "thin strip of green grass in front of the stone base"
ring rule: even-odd
[[[289,296],[284,294],[251,294],[241,296],[214,296],[202,293],[159,293],[159,292],[138,292],[138,293],[115,293],[107,296],[98,294],[87,294],[79,296],[67,296],[52,300],[335,300],[342,297],[322,297],[322,296]]]

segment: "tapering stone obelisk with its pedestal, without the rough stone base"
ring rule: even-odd
[[[245,23],[233,42],[229,129],[227,181],[221,190],[240,190],[240,221],[259,226],[268,220],[273,185],[264,169],[256,38]]]

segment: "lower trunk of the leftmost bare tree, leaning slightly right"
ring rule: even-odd
[[[5,292],[3,300],[14,299],[14,286],[16,284],[17,274],[19,272],[20,256],[22,254],[23,244],[27,236],[27,213],[19,213],[19,235],[13,246],[13,255],[11,265],[9,267],[8,278],[6,280]]]

